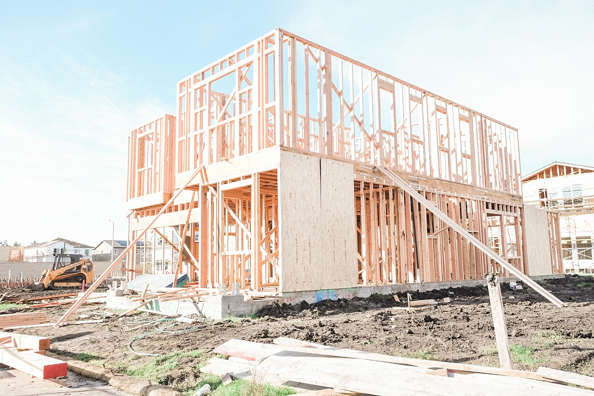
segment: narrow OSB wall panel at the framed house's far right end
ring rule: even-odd
[[[549,239],[546,211],[535,205],[524,205],[524,222],[528,274],[530,276],[552,274],[551,239]]]

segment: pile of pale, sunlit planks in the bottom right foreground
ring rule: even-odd
[[[592,378],[541,368],[536,372],[410,359],[337,349],[292,338],[274,344],[229,340],[214,349],[230,356],[214,358],[202,372],[245,378],[261,384],[315,385],[320,394],[392,395],[589,395]],[[311,388],[299,386],[303,388]]]

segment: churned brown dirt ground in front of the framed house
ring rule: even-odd
[[[567,302],[568,308],[557,308],[527,286],[514,291],[509,284],[502,285],[514,367],[547,366],[594,376],[594,277],[567,276],[541,284]],[[105,363],[108,368],[132,374],[135,368],[155,359],[158,364],[159,358],[135,354],[129,344],[140,353],[178,351],[179,364],[162,373],[159,382],[181,391],[188,391],[197,383],[201,374],[196,366],[214,356],[210,351],[229,338],[271,343],[276,337],[292,337],[394,356],[498,366],[486,287],[412,293],[415,300],[441,301],[444,297],[450,297],[451,303],[412,312],[393,309],[406,304],[395,303],[391,295],[325,300],[312,305],[274,303],[258,318],[203,320],[194,325],[149,313],[119,320],[110,317],[105,306],[95,305],[80,309],[73,319],[105,316],[106,322],[15,331],[49,336],[55,353]],[[406,293],[399,294],[399,298],[406,301]],[[46,310],[50,321],[56,321],[66,311],[58,307]],[[161,321],[152,323],[157,319]],[[165,332],[157,331],[166,327]],[[196,350],[204,353],[188,354]]]

